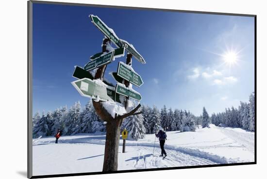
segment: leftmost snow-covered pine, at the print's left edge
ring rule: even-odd
[[[50,119],[45,116],[44,112],[42,117],[36,121],[36,124],[33,126],[33,134],[34,137],[39,137],[39,136],[48,136],[50,135]]]

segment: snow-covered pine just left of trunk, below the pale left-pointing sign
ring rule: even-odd
[[[94,106],[92,101],[89,100],[83,109],[81,133],[90,133],[92,132],[92,114],[94,113]]]

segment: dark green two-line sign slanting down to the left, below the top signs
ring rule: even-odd
[[[114,50],[106,54],[103,54],[99,58],[86,63],[84,66],[84,70],[90,71],[93,70],[94,68],[98,68],[102,65],[108,64],[112,61],[113,56],[114,56]]]

